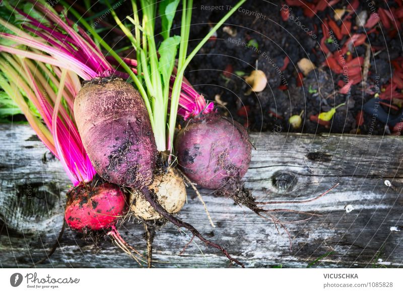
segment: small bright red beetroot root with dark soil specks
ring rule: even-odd
[[[100,230],[114,225],[126,211],[126,197],[118,186],[103,183],[80,185],[69,194],[66,223],[76,230]]]

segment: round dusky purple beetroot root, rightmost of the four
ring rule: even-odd
[[[179,167],[199,186],[219,189],[240,181],[251,157],[245,128],[211,113],[193,119],[177,135]]]

